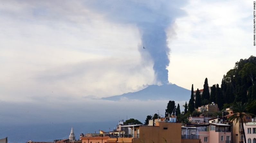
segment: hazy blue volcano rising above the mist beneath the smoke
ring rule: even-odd
[[[149,85],[148,87],[137,91],[128,92],[122,95],[116,95],[111,97],[102,98],[105,100],[117,101],[122,98],[137,99],[137,100],[175,100],[175,101],[187,101],[190,98],[191,92],[176,84],[164,84],[164,85]]]

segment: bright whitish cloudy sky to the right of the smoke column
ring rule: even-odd
[[[183,10],[187,15],[176,20],[177,35],[169,38],[169,81],[187,89],[192,83],[202,89],[206,77],[209,86],[220,84],[236,61],[256,53],[250,2],[196,0]]]

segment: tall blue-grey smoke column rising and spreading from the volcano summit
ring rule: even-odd
[[[184,0],[101,0],[88,1],[86,5],[92,10],[102,12],[114,22],[136,24],[142,35],[139,51],[144,59],[154,62],[155,82],[167,84],[170,48],[167,46],[166,29],[177,17],[184,15],[180,8]],[[142,49],[145,46],[146,49]],[[144,54],[148,52],[149,54]],[[149,57],[149,56],[150,57]]]

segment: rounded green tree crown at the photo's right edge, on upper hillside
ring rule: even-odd
[[[242,77],[249,77],[249,81],[251,80],[252,85],[254,85],[253,80],[256,75],[256,66],[253,63],[248,62],[243,66],[239,74],[241,74]]]

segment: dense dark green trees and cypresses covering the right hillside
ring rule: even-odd
[[[221,86],[219,84],[212,85],[210,95],[208,95],[208,89],[206,78],[202,97],[197,98],[199,91],[196,93],[196,107],[215,102],[220,110],[224,110],[232,106],[233,103],[242,102],[249,103],[248,112],[256,114],[256,57],[251,56],[248,59],[237,61],[234,68],[223,75]],[[192,94],[191,91],[191,100],[194,100]],[[188,104],[190,113],[194,111],[194,108],[192,108],[194,106],[191,104],[193,102]]]

